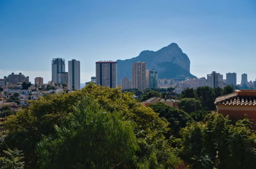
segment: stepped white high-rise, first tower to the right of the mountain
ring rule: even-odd
[[[223,75],[220,73],[216,73],[213,71],[211,74],[207,75],[207,86],[211,88],[224,88],[224,83],[223,83]]]

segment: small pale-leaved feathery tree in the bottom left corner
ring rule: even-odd
[[[23,153],[17,149],[3,151],[3,156],[0,156],[0,168],[9,169],[9,168],[24,168],[23,162]]]

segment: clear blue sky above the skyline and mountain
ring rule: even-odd
[[[51,59],[81,61],[81,82],[95,61],[127,59],[177,43],[190,72],[256,78],[256,1],[0,0],[0,78],[22,72],[51,80]]]

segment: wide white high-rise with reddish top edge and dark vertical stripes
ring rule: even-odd
[[[117,62],[96,61],[96,85],[117,87]]]

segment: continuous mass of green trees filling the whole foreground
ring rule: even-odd
[[[4,122],[1,167],[255,166],[256,138],[247,118],[234,122],[209,114],[200,101],[194,104],[194,98],[184,99],[180,110],[163,103],[143,107],[132,95],[89,85],[31,101]]]

